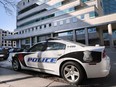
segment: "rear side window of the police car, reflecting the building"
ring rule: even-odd
[[[65,44],[57,43],[57,42],[48,42],[46,50],[64,50],[66,47]]]

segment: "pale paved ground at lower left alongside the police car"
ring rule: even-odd
[[[8,72],[7,74],[0,72],[0,87],[76,87],[55,79],[13,71],[11,65],[9,61],[0,61],[0,71]]]

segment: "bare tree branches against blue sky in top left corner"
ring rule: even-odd
[[[6,13],[12,14],[13,10],[16,9],[16,0],[0,0],[0,5],[2,5]]]

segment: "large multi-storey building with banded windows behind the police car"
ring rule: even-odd
[[[21,0],[17,5],[15,35],[6,39],[16,40],[18,47],[26,48],[49,37],[114,46],[116,14],[103,16],[101,3],[101,0]]]

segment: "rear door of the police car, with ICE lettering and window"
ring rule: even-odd
[[[43,65],[39,65],[39,68],[46,70],[53,70],[54,64],[57,59],[65,52],[66,45],[59,42],[48,42],[46,50],[41,53],[41,58],[44,59]]]

